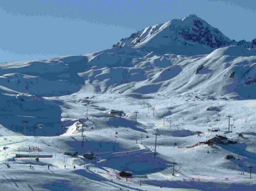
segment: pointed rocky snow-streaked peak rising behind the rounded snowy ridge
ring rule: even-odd
[[[129,38],[121,39],[117,45],[123,46],[123,44],[140,47],[143,50],[181,55],[206,54],[216,48],[229,45],[256,47],[255,39],[251,42],[230,40],[217,28],[210,26],[196,15],[147,27],[133,33]]]

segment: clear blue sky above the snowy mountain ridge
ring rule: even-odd
[[[0,0],[0,62],[95,52],[189,14],[252,40],[255,10],[256,0]]]

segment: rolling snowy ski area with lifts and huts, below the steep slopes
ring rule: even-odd
[[[102,94],[84,98],[83,92],[48,98],[64,100],[61,124],[64,133],[42,136],[1,128],[0,181],[6,190],[254,190],[256,164],[256,101],[208,100],[203,95]],[[207,108],[214,106],[219,110]],[[154,116],[153,116],[153,108]],[[241,108],[237,112],[236,108]],[[109,109],[125,116],[110,116]],[[88,111],[87,111],[88,110]],[[137,123],[135,111],[138,111]],[[88,112],[88,119],[86,114]],[[227,114],[233,116],[233,132],[227,131]],[[165,124],[163,125],[163,117]],[[82,128],[82,124],[84,123]],[[170,125],[172,120],[172,127]],[[213,132],[208,129],[219,128]],[[84,135],[84,143],[82,141]],[[198,136],[198,132],[200,135]],[[29,131],[28,131],[29,132]],[[154,133],[157,155],[154,156]],[[238,137],[242,133],[242,137]],[[32,135],[31,135],[32,134]],[[236,144],[202,142],[217,135]],[[200,142],[200,143],[199,143]],[[33,151],[34,149],[34,151]],[[39,152],[38,152],[39,150]],[[78,157],[64,156],[77,151]],[[83,158],[93,152],[95,160]],[[15,158],[16,154],[29,158]],[[35,156],[53,155],[52,158]],[[234,155],[235,159],[226,159]],[[239,160],[238,160],[239,157]],[[30,164],[34,167],[30,169]],[[75,164],[75,169],[73,167]],[[174,165],[174,176],[173,173]],[[48,169],[49,165],[49,169]],[[64,168],[66,165],[66,169]],[[90,167],[90,169],[89,169]],[[133,178],[116,178],[131,171]],[[139,185],[141,181],[141,186]]]

